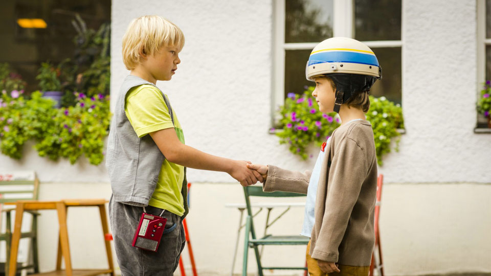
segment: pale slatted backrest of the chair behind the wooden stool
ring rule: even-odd
[[[34,171],[0,172],[0,203],[37,199],[38,188]]]

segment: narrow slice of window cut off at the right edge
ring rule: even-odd
[[[482,84],[491,80],[491,0],[477,1],[477,93]],[[479,95],[476,94],[476,97]],[[478,113],[477,127],[487,128],[487,120]]]

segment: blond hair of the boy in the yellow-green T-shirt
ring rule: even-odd
[[[123,63],[128,70],[133,70],[142,56],[151,56],[162,47],[183,49],[183,31],[158,15],[135,18],[123,36]]]

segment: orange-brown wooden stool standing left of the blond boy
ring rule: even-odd
[[[99,207],[99,212],[102,222],[103,236],[105,233],[109,233],[109,228],[107,226],[107,216],[105,199],[70,199],[61,201],[37,201],[37,200],[26,200],[15,202],[15,226],[12,235],[12,245],[10,251],[10,265],[9,265],[9,276],[15,276],[16,272],[16,262],[17,262],[17,251],[19,248],[20,239],[20,227],[22,225],[22,218],[24,211],[27,210],[57,210],[58,212],[58,223],[60,226],[60,235],[58,243],[58,256],[56,261],[56,270],[52,272],[31,274],[31,275],[66,275],[66,276],[95,276],[99,274],[111,274],[114,276],[113,267],[113,256],[111,252],[110,242],[104,239],[106,246],[107,261],[109,263],[109,268],[107,269],[73,269],[72,261],[70,259],[70,246],[68,242],[68,229],[66,227],[66,209],[72,206],[97,206]],[[63,256],[65,262],[65,270],[61,270],[61,256]]]

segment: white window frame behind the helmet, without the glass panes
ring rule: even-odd
[[[286,1],[273,0],[273,81],[272,81],[272,125],[277,125],[280,120],[277,110],[284,105],[285,90],[285,55],[286,50],[311,50],[321,42],[303,42],[303,43],[285,43],[285,17]],[[401,50],[401,94],[404,93],[404,42],[403,42],[403,24],[404,24],[404,0],[401,0],[401,26],[400,40],[378,40],[362,41],[370,48],[400,48]],[[333,0],[333,36],[354,36],[354,0]],[[307,61],[305,61],[306,63]]]

